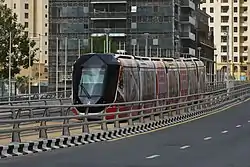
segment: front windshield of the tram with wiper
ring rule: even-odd
[[[105,68],[84,68],[79,84],[79,97],[90,100],[102,96],[104,75]]]

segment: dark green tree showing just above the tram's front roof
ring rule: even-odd
[[[105,36],[101,37],[92,37],[93,39],[93,52],[94,53],[104,53],[104,42],[106,41]],[[111,43],[111,53],[115,53],[117,51],[117,43],[109,38]],[[90,53],[91,52],[91,39],[89,39],[89,47],[86,48],[83,53]]]

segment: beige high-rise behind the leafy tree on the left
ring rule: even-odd
[[[36,59],[31,69],[22,69],[20,75],[32,77],[32,84],[48,81],[48,0],[5,0],[8,8],[17,14],[17,21],[24,25],[29,38],[36,42]],[[40,67],[40,71],[39,71]]]

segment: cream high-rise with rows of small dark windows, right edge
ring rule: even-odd
[[[214,32],[217,69],[227,69],[236,79],[250,78],[250,25],[247,0],[204,0],[201,9],[211,15],[210,30]],[[229,57],[229,59],[228,59]],[[250,64],[249,64],[250,65]]]

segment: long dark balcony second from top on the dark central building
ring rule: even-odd
[[[93,12],[91,20],[126,20],[127,12]]]

